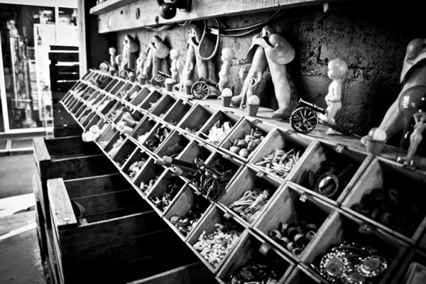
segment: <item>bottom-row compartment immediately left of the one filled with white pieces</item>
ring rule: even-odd
[[[200,208],[200,211],[203,212],[202,217],[204,217],[207,210],[213,206],[208,200],[202,197],[202,195],[197,195],[192,185],[187,185],[184,187],[180,195],[178,195],[175,202],[170,204],[170,209],[168,212],[164,214],[165,221],[168,222],[169,226],[173,229],[173,231],[175,231],[176,234],[178,234],[182,241],[187,240],[188,236],[190,236],[191,232],[195,229],[197,224],[200,223],[202,217],[200,220],[198,220],[197,224],[194,224],[193,229],[188,231],[186,235],[182,234],[182,232],[179,231],[175,224],[170,222],[170,219],[172,217],[185,217],[185,215],[192,209],[194,204],[197,204]]]

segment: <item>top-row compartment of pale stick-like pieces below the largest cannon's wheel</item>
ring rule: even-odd
[[[291,136],[280,129],[273,129],[271,134],[268,135],[268,138],[263,139],[262,143],[258,146],[258,151],[256,151],[251,156],[249,163],[251,163],[255,168],[262,170],[267,175],[271,175],[274,178],[289,180],[295,173],[295,170],[293,170],[295,166],[293,166],[293,169],[290,170],[290,173],[288,173],[285,178],[281,178],[278,175],[268,173],[265,168],[256,165],[256,163],[263,161],[262,157],[274,153],[277,149],[282,149],[285,152],[294,149],[293,153],[300,151],[299,160],[297,161],[297,163],[300,163],[303,153],[305,153],[306,149],[310,146],[311,143],[313,143],[313,141],[313,139],[308,138],[307,136]]]

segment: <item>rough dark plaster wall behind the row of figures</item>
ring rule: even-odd
[[[410,17],[401,21],[404,13]],[[419,16],[413,13],[419,13]],[[272,12],[265,12],[220,19],[227,28],[235,28],[258,23],[271,15]],[[343,107],[337,114],[337,122],[355,133],[366,134],[380,124],[388,107],[398,97],[405,47],[413,38],[426,36],[420,23],[422,18],[420,11],[410,10],[408,5],[406,8],[388,7],[385,12],[358,1],[357,4],[332,4],[327,13],[322,11],[322,6],[288,10],[273,22],[273,26],[296,50],[295,60],[288,64],[293,88],[292,104],[295,105],[301,97],[326,107],[324,97],[331,82],[327,77],[327,63],[334,58],[343,58],[348,62],[349,72],[344,80]],[[129,33],[136,35],[142,50],[146,50],[149,40],[158,34],[185,58],[189,31],[190,27],[179,27],[160,33],[145,29],[120,32],[118,43],[122,43],[124,35]],[[246,53],[253,35],[221,40],[220,50],[233,48],[236,54],[230,71],[230,83],[235,86],[236,94],[241,89],[239,68],[246,64]],[[121,50],[121,46],[118,48]],[[220,55],[214,62],[216,65],[211,64],[210,70],[215,71],[210,77],[217,80]],[[261,104],[277,109],[268,70],[263,77],[265,84],[257,89]]]

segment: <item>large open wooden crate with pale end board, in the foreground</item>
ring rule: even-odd
[[[101,271],[109,275],[110,269],[114,271],[117,266],[126,273],[130,262],[144,258],[152,261],[155,256],[163,258],[168,251],[186,250],[131,185],[121,185],[116,192],[87,196],[84,182],[79,189],[83,196],[71,199],[62,179],[48,181],[53,244],[63,283],[76,283],[69,280],[76,274],[84,278],[92,275],[94,280]],[[87,224],[77,222],[72,201],[84,207]],[[156,269],[161,262],[157,258],[151,265],[144,263],[147,269]]]

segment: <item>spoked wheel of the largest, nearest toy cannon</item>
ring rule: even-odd
[[[290,124],[298,133],[310,133],[317,128],[318,116],[310,107],[296,107],[290,116]]]

